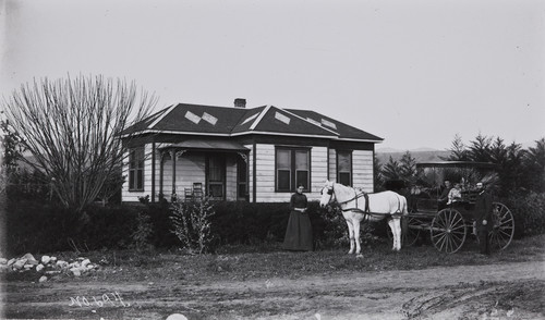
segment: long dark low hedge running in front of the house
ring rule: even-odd
[[[545,194],[514,195],[505,201],[516,220],[516,237],[545,233]],[[215,204],[211,218],[213,249],[223,245],[282,242],[288,224],[288,204]],[[89,207],[74,213],[40,202],[8,201],[3,214],[2,253],[10,256],[62,250],[118,248],[172,248],[180,246],[171,233],[169,204]],[[310,202],[316,248],[347,245],[347,226],[338,211]],[[375,229],[384,234],[386,226]],[[375,232],[377,234],[377,232]]]

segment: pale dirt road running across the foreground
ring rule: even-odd
[[[250,281],[4,283],[5,317],[545,319],[545,262]]]

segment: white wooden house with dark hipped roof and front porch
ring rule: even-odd
[[[122,200],[198,196],[289,201],[298,184],[308,199],[326,180],[373,192],[375,144],[383,138],[310,110],[175,104],[125,131]]]

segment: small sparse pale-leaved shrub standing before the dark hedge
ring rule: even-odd
[[[214,207],[204,198],[202,201],[171,204],[173,230],[171,231],[190,253],[203,254],[211,241],[210,217]]]

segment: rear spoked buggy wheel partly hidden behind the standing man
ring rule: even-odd
[[[514,219],[506,205],[493,202],[493,230],[488,233],[491,247],[502,250],[509,246],[514,234]]]

